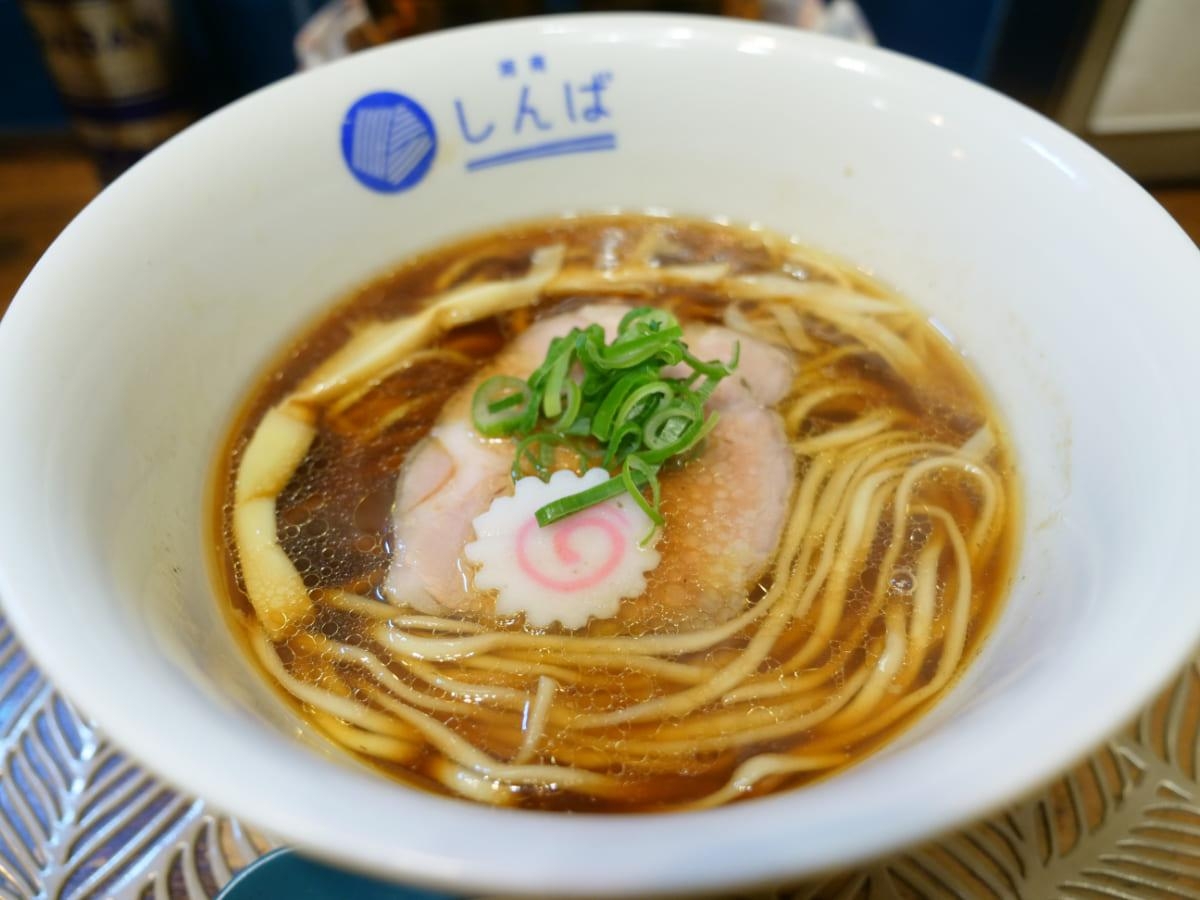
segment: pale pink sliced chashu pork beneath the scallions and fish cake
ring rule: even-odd
[[[475,389],[493,374],[528,377],[550,342],[572,328],[596,323],[612,340],[628,311],[590,305],[542,319],[451,397],[397,482],[395,553],[385,586],[392,602],[432,614],[491,614],[491,598],[473,588],[463,548],[474,536],[472,521],[512,491],[514,445],[475,433]],[[661,474],[662,559],[647,576],[646,593],[622,601],[618,617],[638,631],[691,630],[740,612],[748,587],[775,552],[792,494],[794,463],[772,409],[791,384],[791,358],[712,325],[689,325],[684,338],[700,359],[727,360],[740,342],[740,362],[709,401],[720,419],[702,452]]]

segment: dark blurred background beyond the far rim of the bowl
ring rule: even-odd
[[[1200,234],[1200,0],[0,0],[0,312],[104,182],[298,68],[493,18],[656,10],[874,42],[1108,154]]]

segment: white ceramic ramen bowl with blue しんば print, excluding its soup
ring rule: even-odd
[[[407,790],[326,749],[234,646],[206,565],[214,454],[256,373],[348,289],[474,229],[612,208],[762,223],[928,310],[1012,426],[1019,577],[950,696],[806,790],[632,817]],[[344,865],[637,895],[845,865],[1051,776],[1200,635],[1198,290],[1195,247],[1117,169],[889,53],[655,17],[409,41],[190,128],[38,264],[0,326],[0,594],[118,744]]]

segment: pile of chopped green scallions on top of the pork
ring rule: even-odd
[[[716,413],[706,416],[704,403],[737,367],[739,349],[736,344],[728,362],[698,360],[674,316],[638,307],[622,318],[611,343],[600,325],[576,328],[551,341],[527,380],[488,378],[475,391],[472,418],[485,437],[517,439],[514,481],[530,474],[548,479],[560,450],[575,455],[580,472],[600,466],[613,475],[539,509],[540,526],[626,491],[659,526],[659,469],[716,425]],[[662,374],[679,364],[690,373]]]

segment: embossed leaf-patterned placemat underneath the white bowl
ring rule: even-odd
[[[0,899],[206,900],[275,844],[163,786],[0,617]],[[869,868],[739,900],[1200,900],[1200,660],[1049,788]]]

